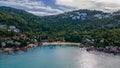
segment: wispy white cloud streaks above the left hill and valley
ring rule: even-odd
[[[0,0],[0,5],[23,9],[26,11],[30,11],[30,13],[33,13],[35,15],[36,14],[47,15],[48,12],[50,12],[50,13],[54,12],[53,14],[63,13],[63,11],[60,9],[54,9],[50,6],[46,6],[41,0],[39,0],[39,1],[35,1],[35,0]],[[50,15],[50,14],[48,14],[48,15]],[[52,15],[52,13],[51,13],[51,15]]]

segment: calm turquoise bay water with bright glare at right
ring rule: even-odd
[[[120,56],[49,45],[22,54],[0,55],[0,68],[120,68]]]

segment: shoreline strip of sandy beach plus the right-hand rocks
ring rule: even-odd
[[[86,51],[98,51],[104,52],[108,54],[120,55],[120,47],[118,46],[105,46],[105,47],[95,47],[90,45],[84,45],[82,43],[74,43],[74,42],[43,42],[44,45],[77,45],[79,48],[84,48]]]

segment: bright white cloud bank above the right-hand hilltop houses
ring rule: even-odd
[[[76,9],[118,10],[120,0],[55,0],[57,5],[74,7]]]

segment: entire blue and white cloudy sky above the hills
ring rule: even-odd
[[[77,9],[111,12],[120,9],[120,0],[0,0],[0,6],[23,9],[42,16]]]

